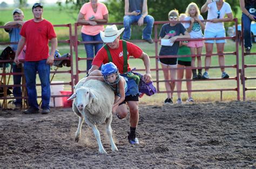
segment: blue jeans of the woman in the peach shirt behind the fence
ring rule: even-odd
[[[102,41],[102,38],[100,37],[100,34],[97,35],[86,35],[85,33],[82,34],[83,41]],[[86,51],[87,58],[93,58],[100,48],[102,48],[103,43],[90,43],[90,44],[84,44],[84,48]],[[94,47],[94,51],[93,51]],[[87,71],[91,69],[92,66],[92,60],[86,60],[87,61]]]

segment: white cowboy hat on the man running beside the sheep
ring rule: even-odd
[[[111,43],[121,35],[124,31],[124,28],[118,30],[116,25],[107,25],[105,31],[100,31],[100,37],[102,38],[103,42]]]

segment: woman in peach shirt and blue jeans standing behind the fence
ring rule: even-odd
[[[83,41],[102,41],[99,31],[104,31],[104,25],[98,25],[107,23],[109,20],[109,11],[106,5],[98,2],[98,0],[90,0],[85,3],[77,17],[77,22],[83,24],[81,34]],[[90,43],[84,44],[86,56],[87,56],[87,68],[91,69],[93,57],[97,54],[103,43]]]

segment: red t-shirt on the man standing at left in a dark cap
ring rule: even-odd
[[[20,34],[26,38],[26,61],[48,58],[48,40],[56,37],[53,25],[49,21],[44,19],[41,22],[35,22],[30,19],[24,23]]]

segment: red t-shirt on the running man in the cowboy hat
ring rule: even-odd
[[[129,60],[130,56],[133,56],[134,58],[139,58],[142,56],[142,50],[137,46],[130,42],[126,42],[127,46],[127,60]],[[123,42],[122,40],[119,40],[119,48],[118,49],[110,49],[110,54],[112,57],[112,62],[115,64],[121,74],[125,73],[123,72],[124,69],[124,57],[123,57]],[[97,55],[92,61],[92,65],[100,66],[106,63],[109,63],[109,58],[107,57],[107,51],[105,48],[100,49],[97,52]],[[128,63],[127,65],[127,71],[130,71],[130,65]]]

